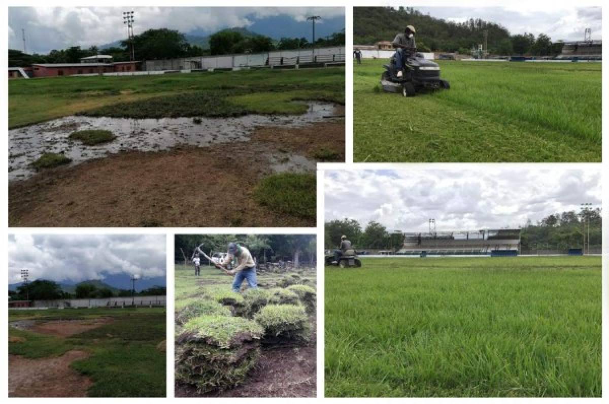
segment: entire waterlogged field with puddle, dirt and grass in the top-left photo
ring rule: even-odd
[[[312,226],[344,86],[344,68],[11,80],[10,224]]]

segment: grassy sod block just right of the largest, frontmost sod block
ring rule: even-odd
[[[264,345],[298,346],[311,340],[311,322],[304,306],[266,305],[254,319],[264,327]]]

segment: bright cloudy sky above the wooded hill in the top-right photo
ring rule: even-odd
[[[599,2],[600,3],[600,2]],[[510,4],[507,2],[507,4]],[[531,1],[503,7],[415,7],[424,14],[447,21],[462,23],[470,18],[493,21],[507,28],[511,34],[524,32],[549,35],[552,40],[583,40],[583,30],[592,29],[592,38],[602,36],[601,8],[554,5]]]

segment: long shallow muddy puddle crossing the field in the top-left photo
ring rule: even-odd
[[[44,152],[61,153],[72,159],[72,165],[122,151],[164,151],[175,146],[205,147],[211,144],[247,141],[258,126],[304,126],[312,122],[329,121],[336,104],[304,102],[308,111],[302,115],[245,115],[230,118],[193,117],[131,119],[107,116],[65,116],[41,124],[9,131],[9,180],[31,177],[35,170],[30,164]],[[97,146],[85,146],[69,139],[75,130],[110,130],[116,139]],[[306,160],[304,157],[302,159]],[[290,171],[310,166],[297,156],[289,162],[273,163],[273,170]],[[292,162],[293,161],[293,162]],[[314,164],[312,169],[315,169]]]

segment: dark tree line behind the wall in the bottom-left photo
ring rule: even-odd
[[[128,289],[110,289],[105,286],[81,283],[74,293],[63,291],[62,286],[52,280],[35,280],[27,285],[19,285],[16,291],[9,291],[10,300],[60,300],[60,299],[107,299],[110,297],[131,296],[166,296],[167,288],[152,286],[143,291],[133,292]]]

